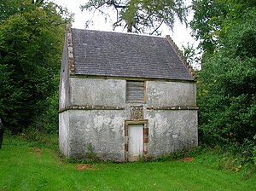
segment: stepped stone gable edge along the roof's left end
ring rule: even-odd
[[[67,25],[67,59],[68,59],[68,67],[69,72],[74,73],[75,72],[75,65],[74,65],[74,59],[73,59],[73,42],[72,42],[72,25]]]

